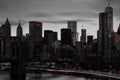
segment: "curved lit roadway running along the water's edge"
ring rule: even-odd
[[[87,76],[96,76],[104,79],[120,80],[120,75],[115,73],[99,72],[99,71],[89,71],[89,70],[69,70],[69,69],[44,69],[44,68],[27,68],[27,71],[32,72],[52,72],[52,73],[64,73],[72,75],[87,75]]]

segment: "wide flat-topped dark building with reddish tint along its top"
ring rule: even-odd
[[[42,22],[29,22],[30,37],[33,41],[40,41],[42,39]]]

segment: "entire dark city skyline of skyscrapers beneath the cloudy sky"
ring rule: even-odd
[[[68,21],[67,24],[67,28],[61,29],[61,40],[57,39],[57,32],[52,30],[44,30],[42,37],[43,25],[38,21],[29,22],[26,36],[23,36],[19,22],[17,36],[13,37],[7,19],[0,27],[1,59],[17,58],[24,53],[27,61],[76,60],[84,63],[81,66],[85,69],[120,70],[120,26],[114,32],[113,8],[110,5],[99,13],[97,39],[93,39],[93,35],[86,35],[87,30],[82,28],[78,41],[77,21]]]

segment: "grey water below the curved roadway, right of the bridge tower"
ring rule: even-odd
[[[27,74],[27,80],[86,80],[85,78],[59,74]]]

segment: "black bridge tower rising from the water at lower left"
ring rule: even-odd
[[[24,42],[11,42],[11,80],[26,80]]]

